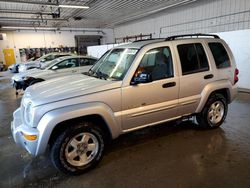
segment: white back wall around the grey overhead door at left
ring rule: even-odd
[[[114,43],[113,29],[102,29],[104,32],[102,44]],[[3,49],[14,48],[16,61],[20,61],[20,48],[42,48],[75,46],[75,35],[101,35],[98,32],[69,32],[69,31],[11,31],[6,33],[5,40],[0,41],[0,61],[4,62]]]

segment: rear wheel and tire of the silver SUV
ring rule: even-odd
[[[207,101],[203,110],[196,115],[199,125],[205,128],[218,128],[227,116],[228,104],[221,94],[213,94]]]

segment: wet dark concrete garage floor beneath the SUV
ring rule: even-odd
[[[250,94],[239,94],[221,128],[187,121],[123,135],[97,168],[68,177],[47,156],[32,158],[12,140],[12,112],[21,97],[10,76],[0,73],[0,187],[250,187]]]

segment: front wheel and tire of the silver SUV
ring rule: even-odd
[[[51,147],[54,166],[69,175],[94,168],[104,153],[104,134],[91,122],[78,123],[62,132]]]

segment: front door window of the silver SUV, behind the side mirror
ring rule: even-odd
[[[136,71],[140,72],[151,74],[153,81],[173,77],[173,62],[169,47],[155,48],[146,52]]]

